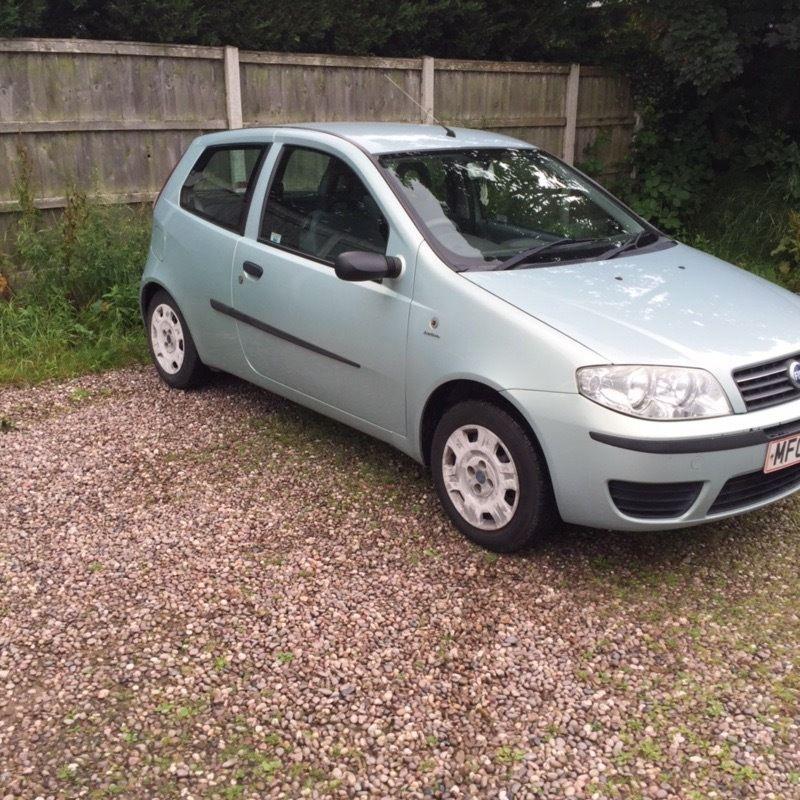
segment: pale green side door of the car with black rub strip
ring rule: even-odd
[[[377,168],[358,155],[361,164],[330,146],[292,141],[274,154],[269,183],[259,184],[257,230],[248,225],[234,257],[233,305],[258,375],[404,435],[414,248],[370,190],[364,172],[382,181]],[[401,256],[403,274],[342,281],[333,261],[347,250]]]

